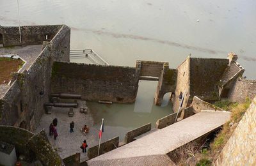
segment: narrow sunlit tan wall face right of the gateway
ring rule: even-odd
[[[189,91],[190,91],[190,71],[189,71],[189,63],[190,57],[187,57],[185,61],[183,61],[180,66],[177,68],[177,86],[175,89],[175,93],[172,96],[172,103],[173,103],[173,111],[177,112],[180,105],[180,99],[179,95],[180,93],[184,94],[187,93],[187,95],[184,98],[184,102],[182,105],[182,109],[186,107],[186,103],[189,100]]]

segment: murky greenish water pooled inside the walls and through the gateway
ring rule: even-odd
[[[161,107],[154,105],[154,91],[157,82],[140,80],[136,102],[132,104],[113,105],[87,102],[90,112],[95,119],[95,126],[100,128],[101,119],[104,118],[106,136],[109,139],[114,136],[124,139],[125,133],[147,123],[155,128],[157,119],[171,114],[172,105],[168,102],[168,94],[164,96]]]

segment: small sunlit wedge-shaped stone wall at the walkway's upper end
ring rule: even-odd
[[[197,96],[194,96],[193,102],[191,103],[191,106],[193,107],[194,112],[201,112],[201,110],[220,110],[225,111],[219,107],[216,107],[215,105],[212,105],[211,103],[205,102],[204,100],[201,100]]]

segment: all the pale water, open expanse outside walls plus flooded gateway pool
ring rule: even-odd
[[[244,75],[256,79],[253,0],[19,0],[19,7],[21,26],[66,24],[71,49],[93,49],[109,64],[135,66],[141,59],[176,68],[189,54],[224,58],[236,52]],[[17,17],[17,1],[0,0],[0,25],[18,26]],[[88,105],[98,110],[95,118],[105,117],[109,128],[125,133],[172,112],[170,103],[153,104],[156,86],[141,81],[132,105]]]

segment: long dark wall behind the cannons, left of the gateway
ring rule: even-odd
[[[136,68],[54,62],[52,93],[81,94],[83,100],[132,103],[138,91]]]

